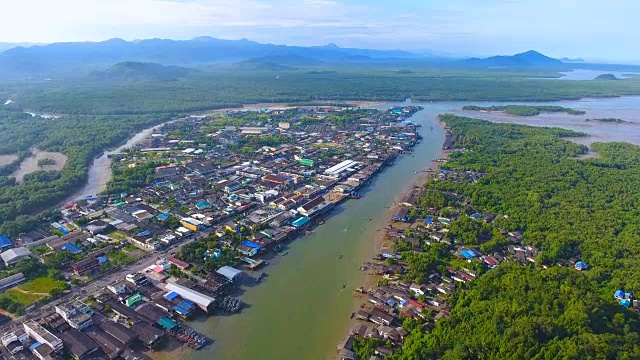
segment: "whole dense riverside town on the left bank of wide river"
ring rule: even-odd
[[[0,237],[4,355],[144,359],[212,346],[187,323],[242,311],[237,290],[269,276],[270,256],[287,256],[421,141],[420,110],[224,111],[110,154],[107,191]]]

